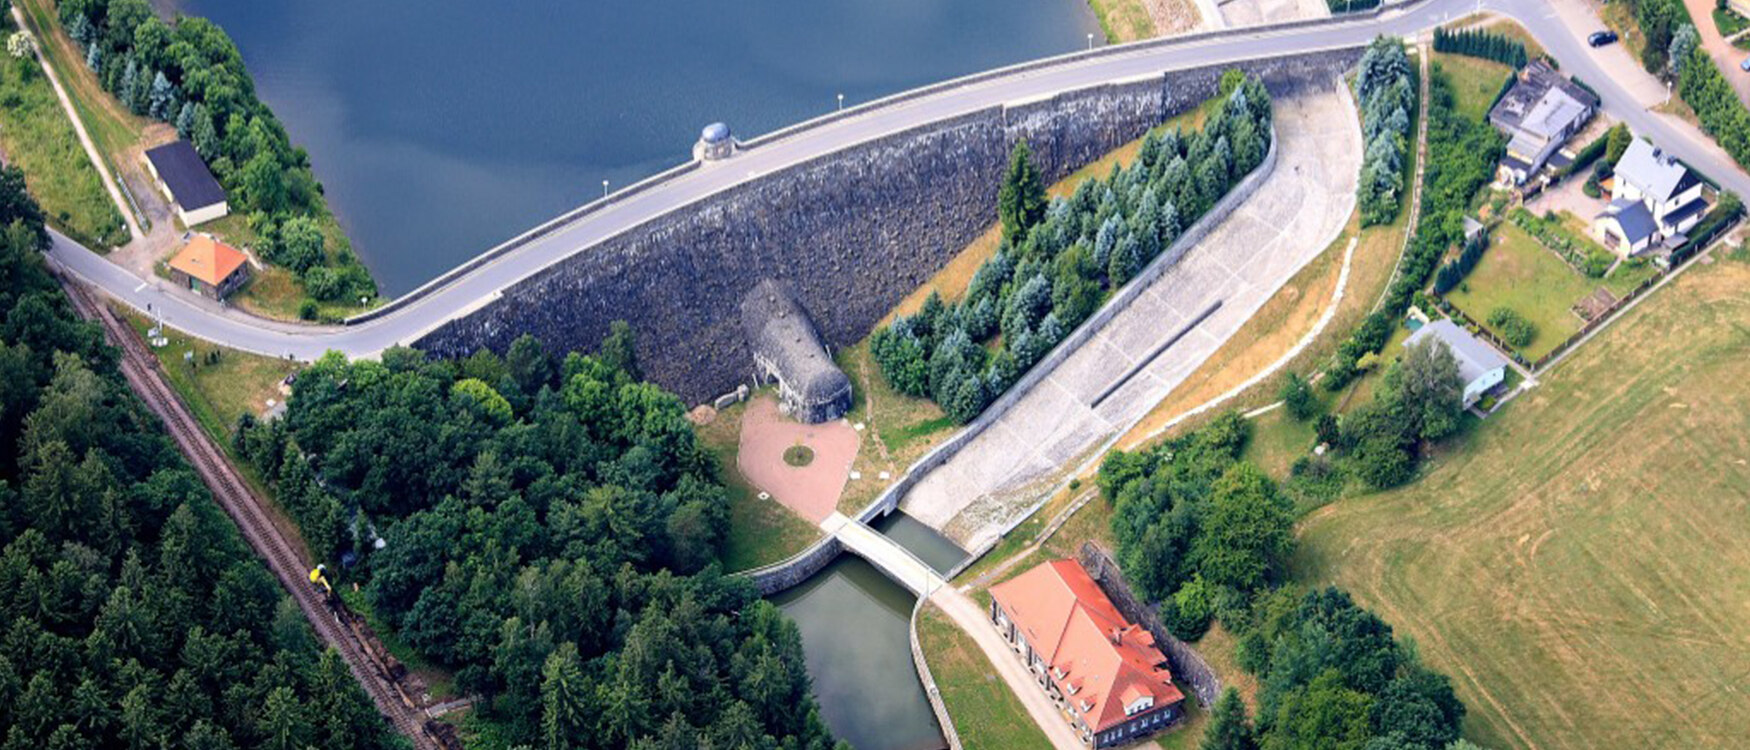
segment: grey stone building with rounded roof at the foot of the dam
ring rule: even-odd
[[[742,330],[754,353],[754,381],[777,383],[786,414],[819,423],[850,411],[850,378],[833,364],[788,288],[772,280],[756,283],[742,299]]]

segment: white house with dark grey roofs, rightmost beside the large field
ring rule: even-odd
[[[1675,248],[1708,212],[1701,187],[1676,157],[1636,138],[1617,159],[1610,205],[1592,220],[1592,233],[1622,257]]]

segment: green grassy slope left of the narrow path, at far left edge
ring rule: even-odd
[[[56,229],[100,252],[128,241],[128,226],[35,59],[0,59],[0,150],[24,170]]]

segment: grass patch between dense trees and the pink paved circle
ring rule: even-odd
[[[746,402],[735,404],[719,411],[709,425],[696,428],[700,442],[718,456],[718,472],[730,493],[730,538],[723,547],[723,568],[730,572],[777,563],[821,538],[817,526],[789,512],[777,500],[760,500],[760,490],[747,484],[735,467],[746,411]]]

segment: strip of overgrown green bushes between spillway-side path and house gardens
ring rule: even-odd
[[[1339,392],[1362,374],[1362,357],[1377,353],[1410,304],[1428,283],[1446,248],[1463,240],[1470,198],[1494,177],[1505,147],[1503,136],[1486,122],[1458,114],[1446,72],[1437,63],[1428,80],[1428,166],[1423,170],[1421,219],[1398,264],[1398,276],[1384,304],[1368,315],[1337,348],[1337,357],[1320,381]]]

